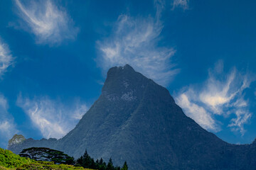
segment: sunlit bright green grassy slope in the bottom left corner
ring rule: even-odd
[[[0,170],[6,169],[83,169],[82,167],[54,164],[53,162],[36,162],[33,159],[20,157],[17,154],[0,148]],[[87,169],[89,170],[89,169]]]

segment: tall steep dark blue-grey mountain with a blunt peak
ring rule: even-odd
[[[176,105],[169,91],[132,67],[107,72],[102,94],[78,125],[60,140],[28,139],[9,145],[62,150],[75,158],[87,152],[129,169],[256,169],[256,143],[220,140]]]

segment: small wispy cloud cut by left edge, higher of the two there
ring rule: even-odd
[[[11,55],[8,45],[0,39],[0,77],[12,64],[14,64],[14,57]]]

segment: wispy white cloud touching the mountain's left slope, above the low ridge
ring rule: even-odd
[[[60,101],[48,97],[33,99],[18,96],[17,105],[31,118],[43,137],[59,139],[75,128],[82,115],[87,111],[85,103],[75,100],[72,106],[65,106]]]

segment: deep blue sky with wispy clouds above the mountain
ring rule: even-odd
[[[63,137],[131,64],[221,139],[256,137],[256,1],[0,1],[0,147]]]

